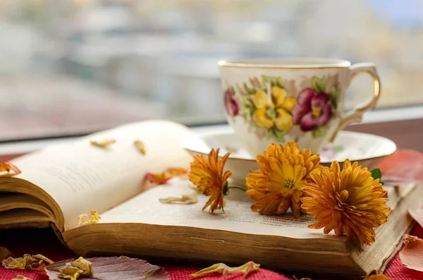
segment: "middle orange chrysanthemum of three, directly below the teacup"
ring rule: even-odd
[[[295,217],[301,214],[302,188],[311,181],[311,171],[320,169],[319,154],[298,148],[295,142],[285,147],[271,144],[269,151],[257,156],[260,169],[247,176],[247,195],[255,200],[251,209],[264,215],[284,214],[291,207]]]

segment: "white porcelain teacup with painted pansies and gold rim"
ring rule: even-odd
[[[360,122],[376,105],[380,82],[373,63],[340,59],[246,59],[219,61],[226,118],[253,155],[272,142],[295,141],[320,150],[349,123]],[[374,92],[367,102],[344,114],[351,80],[367,73]]]

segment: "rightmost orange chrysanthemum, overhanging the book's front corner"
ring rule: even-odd
[[[355,242],[374,242],[374,228],[385,224],[391,209],[385,205],[386,190],[379,179],[374,180],[367,168],[345,159],[343,171],[334,161],[321,174],[312,172],[313,183],[304,188],[302,209],[313,214],[316,223],[310,229],[334,230]]]

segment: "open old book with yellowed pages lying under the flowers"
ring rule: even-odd
[[[190,181],[173,178],[142,192],[147,172],[188,168],[192,160],[179,143],[192,133],[168,121],[145,121],[55,145],[13,160],[22,174],[0,178],[0,228],[52,226],[78,255],[130,255],[147,260],[242,264],[324,274],[368,274],[383,266],[412,224],[407,207],[421,201],[422,188],[388,189],[393,209],[376,229],[376,242],[354,245],[348,238],[308,229],[312,217],[265,217],[250,210],[238,190],[226,197],[225,213],[202,212],[197,204],[162,204],[159,198],[195,192]],[[109,149],[90,140],[116,139]],[[133,145],[145,144],[146,154]],[[98,224],[78,226],[80,214],[97,209]]]

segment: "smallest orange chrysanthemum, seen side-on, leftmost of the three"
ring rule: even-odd
[[[204,155],[197,154],[194,161],[191,162],[190,181],[197,185],[197,190],[204,195],[212,195],[204,205],[203,210],[210,207],[210,212],[216,209],[222,209],[223,195],[228,194],[228,178],[232,175],[231,171],[223,173],[226,159],[229,152],[221,159],[218,159],[219,149],[209,153],[208,159]]]

